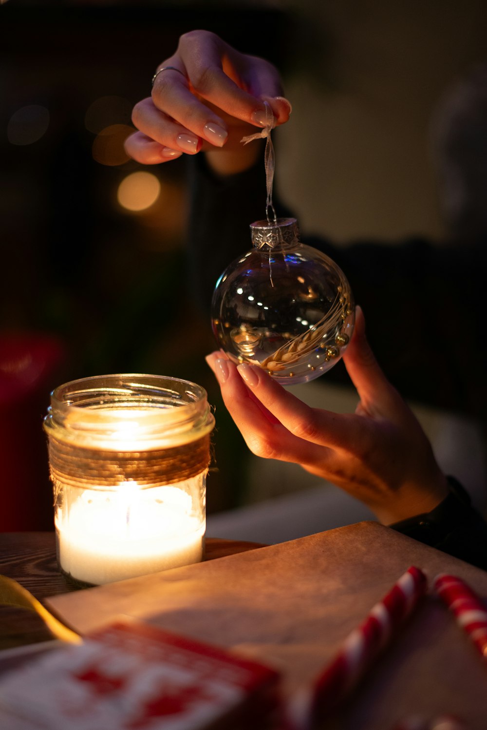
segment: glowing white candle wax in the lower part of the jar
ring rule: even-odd
[[[68,498],[55,518],[61,568],[101,585],[198,563],[205,521],[190,514],[191,505],[182,489],[136,483]]]

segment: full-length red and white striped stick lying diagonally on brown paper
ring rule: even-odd
[[[411,566],[343,642],[335,658],[313,683],[311,723],[320,721],[359,683],[426,593],[426,575]]]

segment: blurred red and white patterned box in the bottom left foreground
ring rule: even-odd
[[[0,715],[26,729],[275,729],[278,684],[255,661],[120,621],[4,677]]]

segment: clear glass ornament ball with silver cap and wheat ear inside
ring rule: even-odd
[[[259,365],[282,385],[330,370],[354,331],[355,307],[341,269],[300,242],[295,218],[258,220],[252,250],[227,266],[211,304],[219,347]]]

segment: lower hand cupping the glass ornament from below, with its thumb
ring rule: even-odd
[[[389,524],[429,512],[448,493],[445,476],[413,412],[386,380],[357,308],[343,361],[359,394],[354,414],[312,408],[260,368],[207,358],[227,410],[250,450],[292,461],[359,499]]]

